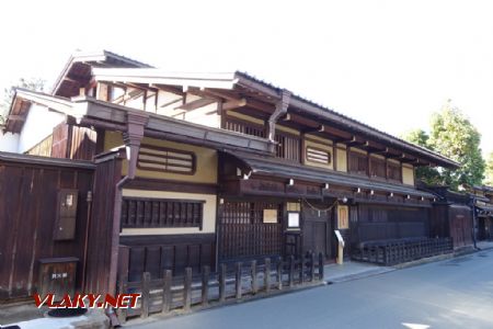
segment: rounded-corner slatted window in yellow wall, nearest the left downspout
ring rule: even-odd
[[[195,154],[191,151],[141,145],[137,167],[142,170],[194,174]]]

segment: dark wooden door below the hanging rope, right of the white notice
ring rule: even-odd
[[[316,206],[316,205],[314,205]],[[323,205],[317,206],[324,208]],[[332,212],[319,212],[303,205],[302,246],[303,252],[322,252],[325,259],[334,258]]]

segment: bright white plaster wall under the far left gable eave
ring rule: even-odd
[[[19,137],[18,152],[23,154],[44,138],[53,134],[53,128],[64,122],[65,114],[48,111],[47,107],[33,104]]]

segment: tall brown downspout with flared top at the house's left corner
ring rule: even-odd
[[[128,160],[128,170],[127,174],[115,185],[115,200],[113,203],[113,231],[108,277],[108,291],[112,295],[116,294],[116,281],[118,274],[118,249],[123,188],[128,181],[135,178],[140,141],[142,140],[144,128],[148,120],[149,115],[145,112],[127,112],[127,131],[123,134],[123,137]],[[114,309],[107,308],[106,315],[110,317],[113,327],[119,325]]]

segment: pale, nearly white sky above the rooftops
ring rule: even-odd
[[[491,1],[3,1],[0,87],[74,49],[248,71],[393,135],[448,100],[493,151]]]

